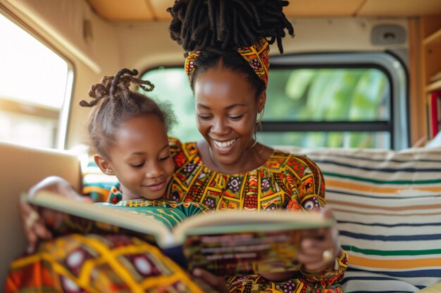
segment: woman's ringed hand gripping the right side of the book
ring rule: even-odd
[[[323,210],[325,219],[335,219],[330,209]],[[309,272],[321,272],[335,265],[341,247],[337,239],[338,230],[335,223],[326,229],[308,230],[300,242],[297,260]]]

